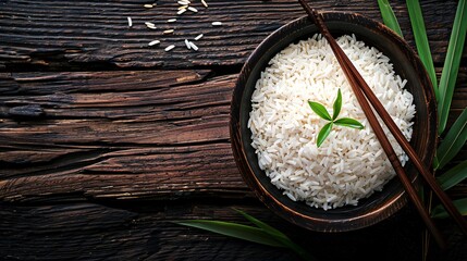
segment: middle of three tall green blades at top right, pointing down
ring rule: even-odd
[[[414,32],[415,44],[418,55],[430,76],[437,101],[440,100],[438,90],[437,73],[434,72],[433,59],[431,58],[430,46],[428,44],[427,30],[425,28],[423,15],[418,0],[406,0],[408,16],[410,17],[411,30]]]

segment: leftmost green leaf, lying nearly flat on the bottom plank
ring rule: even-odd
[[[283,244],[272,238],[268,233],[258,227],[236,224],[232,222],[212,220],[187,220],[174,222],[179,225],[196,227],[224,236],[235,237],[243,240],[258,243],[271,247],[285,248]]]

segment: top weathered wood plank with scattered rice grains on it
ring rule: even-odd
[[[198,13],[187,12],[174,24],[175,0],[160,0],[153,9],[145,1],[48,1],[0,2],[0,69],[8,71],[45,67],[189,67],[242,64],[266,36],[285,23],[303,16],[297,1],[210,0],[200,2]],[[413,45],[405,1],[392,1],[406,39]],[[441,7],[442,4],[442,7]],[[437,63],[444,60],[456,1],[421,1],[428,38]],[[358,12],[381,21],[377,1],[314,1],[320,10]],[[133,17],[128,28],[126,17]],[[223,22],[212,27],[211,22]],[[157,29],[148,29],[152,22]],[[174,28],[173,35],[162,32]],[[199,51],[184,48],[184,39],[198,34]],[[159,47],[148,42],[161,40]],[[171,52],[163,49],[176,45]]]

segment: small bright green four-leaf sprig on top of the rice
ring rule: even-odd
[[[343,126],[343,127],[351,127],[351,128],[358,128],[358,129],[365,128],[364,125],[361,125],[361,123],[359,123],[357,120],[354,120],[351,117],[337,119],[339,113],[341,113],[341,108],[342,108],[341,89],[337,90],[337,97],[334,100],[332,117],[323,104],[316,102],[316,101],[308,101],[308,104],[310,105],[311,110],[318,116],[320,116],[321,119],[323,119],[325,121],[329,121],[329,123],[327,123],[318,134],[318,140],[317,140],[318,148],[322,145],[322,142],[324,142],[324,139],[331,133],[332,126],[334,124],[337,126]]]

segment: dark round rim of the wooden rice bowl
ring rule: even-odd
[[[379,32],[381,32],[381,34],[385,35],[385,37],[389,37],[393,41],[396,41],[397,48],[403,49],[403,52],[406,53],[407,57],[413,59],[411,63],[417,71],[421,70],[422,72],[422,74],[419,74],[419,77],[420,77],[420,80],[423,83],[422,91],[428,100],[427,102],[428,111],[433,112],[429,116],[431,119],[430,129],[434,132],[429,132],[430,133],[429,135],[434,140],[431,147],[434,147],[438,141],[438,136],[435,135],[437,127],[438,127],[438,119],[437,119],[438,113],[437,113],[437,108],[434,102],[434,95],[432,91],[432,85],[431,85],[431,82],[429,80],[428,74],[426,73],[425,67],[418,54],[415,52],[415,50],[392,29],[390,29],[382,23],[374,21],[368,16],[357,14],[357,13],[340,12],[340,11],[322,12],[322,15],[324,21],[339,22],[340,17],[341,18],[346,17],[352,21],[364,21],[365,23],[368,23],[368,25],[358,23],[358,26],[365,26],[365,27],[372,26],[377,28]],[[348,23],[349,21],[341,21],[341,22]],[[268,190],[261,185],[260,181],[254,174],[254,170],[251,169],[248,162],[248,158],[245,153],[245,148],[243,146],[243,138],[241,135],[241,115],[239,114],[241,114],[242,96],[246,89],[245,86],[242,87],[242,84],[246,84],[246,80],[248,77],[245,77],[245,75],[249,76],[250,71],[253,69],[253,66],[249,66],[249,64],[255,63],[255,61],[258,61],[259,57],[261,55],[261,53],[259,53],[259,50],[261,50],[265,45],[270,42],[271,39],[274,39],[274,37],[278,37],[278,35],[280,35],[281,32],[297,27],[304,23],[314,24],[312,22],[308,21],[308,16],[305,15],[281,26],[280,28],[271,33],[255,48],[255,50],[251,52],[251,54],[248,57],[248,59],[246,60],[246,62],[242,67],[242,71],[238,75],[238,78],[236,80],[235,88],[233,91],[233,96],[231,100],[231,112],[230,112],[230,137],[231,137],[231,145],[232,145],[232,150],[233,150],[236,165],[242,174],[243,179],[248,185],[248,187],[255,192],[255,195],[274,213],[279,214],[283,219],[296,225],[299,225],[302,227],[305,227],[311,231],[319,231],[319,232],[345,232],[345,231],[354,231],[354,229],[373,225],[391,216],[392,214],[401,210],[406,204],[407,199],[404,190],[402,190],[400,194],[392,197],[390,200],[384,201],[385,203],[381,208],[374,209],[362,215],[358,215],[352,219],[330,221],[327,219],[310,216],[295,211],[288,206],[280,202],[275,197],[273,197],[270,192],[268,192]],[[430,161],[429,165],[431,166],[431,161],[434,157],[434,148],[433,149],[430,148],[430,152],[428,157]],[[415,175],[414,178],[411,178],[413,184],[417,183],[417,176],[418,175]],[[366,221],[361,222],[364,219],[366,219]]]

